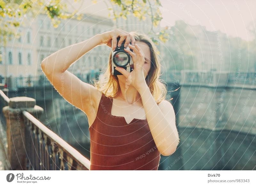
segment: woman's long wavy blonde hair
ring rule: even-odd
[[[157,48],[153,43],[153,41],[145,34],[142,34],[138,31],[130,32],[130,34],[134,36],[135,41],[146,43],[150,49],[151,66],[145,80],[147,82],[147,85],[156,103],[159,104],[161,101],[165,100],[167,90],[166,90],[166,87],[164,86],[164,82],[159,78],[161,65],[160,65],[160,60],[158,58],[158,54],[157,54]],[[109,54],[108,67],[104,72],[103,77],[99,80],[95,80],[94,86],[98,90],[103,92],[106,97],[115,98],[119,95],[121,91],[120,91],[120,85],[119,85],[117,76],[112,75],[111,53],[112,52],[110,52]],[[140,97],[140,102],[142,104],[141,97]]]

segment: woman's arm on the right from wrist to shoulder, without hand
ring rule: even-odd
[[[164,100],[157,105],[146,81],[145,84],[141,85],[137,90],[140,93],[148,126],[157,149],[162,155],[170,156],[176,151],[180,142],[172,104]]]

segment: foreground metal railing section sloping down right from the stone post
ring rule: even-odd
[[[89,170],[90,161],[48,129],[30,113],[23,111],[27,170]]]

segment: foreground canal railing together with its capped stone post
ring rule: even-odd
[[[34,117],[38,113],[40,115],[39,111],[43,111],[35,105],[35,99],[9,99],[2,90],[0,97],[9,105],[0,109],[4,112],[6,121],[7,156],[12,170],[90,169],[90,160]],[[17,119],[18,113],[21,120]]]

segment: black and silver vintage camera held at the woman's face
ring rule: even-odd
[[[118,44],[120,37],[117,37],[116,40]],[[123,75],[115,69],[117,66],[124,68],[127,72],[132,72],[133,70],[132,57],[130,56],[130,54],[124,51],[124,43],[125,40],[120,47],[116,46],[115,51],[112,50],[112,75]],[[130,44],[132,43],[130,42]],[[126,49],[132,51],[132,49],[130,49],[128,46],[126,47]]]

